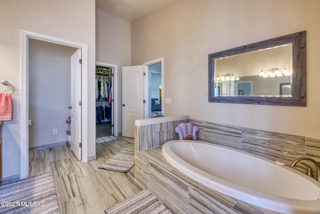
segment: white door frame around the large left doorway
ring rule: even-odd
[[[20,30],[21,32],[21,107],[20,107],[20,179],[28,176],[28,39],[36,39],[44,42],[55,43],[81,49],[82,74],[81,74],[81,99],[82,99],[82,121],[88,121],[88,45],[57,37],[52,37],[32,31]],[[82,138],[82,162],[88,160],[88,132],[87,123],[81,123]]]

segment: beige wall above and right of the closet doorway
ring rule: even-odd
[[[122,132],[122,76],[123,66],[131,65],[131,41],[130,41],[130,22],[114,17],[101,10],[95,12],[95,56],[96,62],[117,65],[117,102],[119,108],[117,112],[118,131]]]

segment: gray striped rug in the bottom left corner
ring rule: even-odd
[[[0,185],[0,202],[0,213],[60,213],[51,172]]]

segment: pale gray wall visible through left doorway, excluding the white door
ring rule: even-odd
[[[28,148],[68,144],[70,56],[76,48],[35,39],[28,43]]]

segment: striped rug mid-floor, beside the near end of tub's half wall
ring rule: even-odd
[[[122,149],[98,168],[117,172],[127,172],[134,165],[134,150]]]

